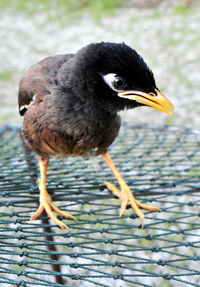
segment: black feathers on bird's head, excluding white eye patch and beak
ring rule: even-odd
[[[103,75],[115,73],[123,77],[127,89],[131,90],[154,92],[156,87],[153,73],[147,64],[125,43],[90,44],[75,54],[70,68],[69,71],[69,65],[66,65],[61,70],[62,86],[73,87],[74,93],[82,100],[87,97],[87,101],[94,100],[113,112],[141,104],[119,98],[103,81]]]

